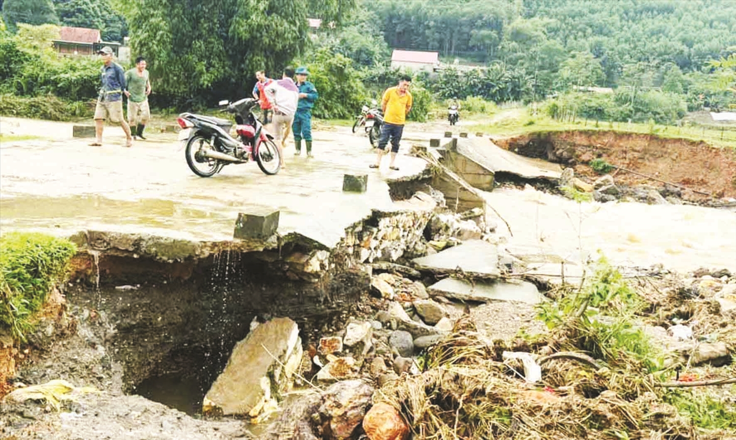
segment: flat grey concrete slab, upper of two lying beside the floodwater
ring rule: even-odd
[[[461,245],[412,260],[418,270],[432,273],[462,271],[478,278],[498,278],[498,249],[484,240],[468,240]]]

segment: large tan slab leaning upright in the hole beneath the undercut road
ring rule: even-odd
[[[258,325],[236,344],[222,374],[202,401],[202,412],[258,416],[289,391],[302,361],[297,323],[276,318]]]

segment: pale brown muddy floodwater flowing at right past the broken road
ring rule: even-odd
[[[736,212],[689,205],[576,203],[527,187],[498,189],[484,197],[511,225],[509,246],[554,253],[570,262],[597,258],[674,270],[736,270]],[[495,214],[490,212],[489,217]]]

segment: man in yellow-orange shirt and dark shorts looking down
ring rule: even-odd
[[[389,168],[391,170],[399,169],[399,167],[394,165],[394,162],[396,161],[396,154],[399,152],[399,142],[401,141],[401,134],[404,131],[406,115],[409,114],[411,104],[413,103],[411,93],[409,93],[410,85],[411,76],[402,75],[396,87],[389,87],[383,92],[383,99],[381,100],[383,126],[381,127],[381,137],[378,140],[378,158],[375,164],[370,165],[371,168],[381,166],[381,159],[386,154],[386,145],[388,145],[390,137],[391,163],[389,164]]]

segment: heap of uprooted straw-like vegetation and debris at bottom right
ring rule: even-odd
[[[732,344],[736,328],[721,325],[707,298],[683,299],[678,289],[654,297],[656,288],[643,288],[651,281],[636,281],[601,259],[578,289],[539,306],[549,333],[514,342],[490,345],[466,316],[428,350],[424,372],[386,384],[374,403],[397,408],[422,439],[725,438],[736,409],[718,393],[736,388],[728,384],[736,382],[733,363],[696,368],[692,357],[668,359],[643,326],[682,319],[687,309],[687,322],[710,337]],[[503,361],[506,350],[531,352],[541,381],[525,383],[520,364]],[[684,388],[693,378],[726,385]]]

